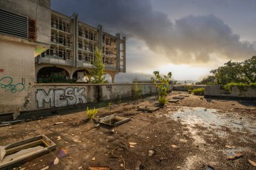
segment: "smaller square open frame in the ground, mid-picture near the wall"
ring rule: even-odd
[[[127,118],[125,116],[117,116],[116,114],[112,114],[110,116],[106,116],[104,118],[100,118],[96,120],[100,125],[108,126],[108,127],[116,127],[121,124],[125,124],[129,122],[131,118]]]

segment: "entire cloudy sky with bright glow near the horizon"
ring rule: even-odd
[[[51,8],[127,38],[127,73],[199,81],[228,60],[256,55],[255,0],[52,0]]]

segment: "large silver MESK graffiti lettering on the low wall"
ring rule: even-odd
[[[48,93],[44,89],[36,91],[36,103],[38,108],[44,108],[44,103],[50,103],[50,107],[64,107],[78,103],[87,103],[83,95],[84,87],[67,87],[66,89],[49,89]]]

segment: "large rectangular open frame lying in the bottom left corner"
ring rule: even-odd
[[[0,169],[13,166],[32,157],[49,153],[56,149],[56,144],[44,134],[0,148]]]

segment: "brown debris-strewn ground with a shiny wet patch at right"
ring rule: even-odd
[[[171,99],[185,92],[173,91]],[[84,123],[86,111],[0,127],[0,145],[45,134],[57,149],[14,169],[256,169],[256,101],[210,99],[189,95],[153,113],[137,111],[153,106],[155,97],[100,108],[97,117],[118,114],[131,121],[113,130]],[[54,125],[56,122],[63,124]],[[57,137],[61,139],[57,140]],[[135,142],[130,147],[129,142]],[[60,153],[66,151],[66,155]],[[235,153],[243,157],[228,160]],[[152,155],[150,155],[152,154]],[[59,157],[59,163],[53,161]],[[95,159],[95,160],[93,160]],[[13,169],[13,168],[12,168]]]

